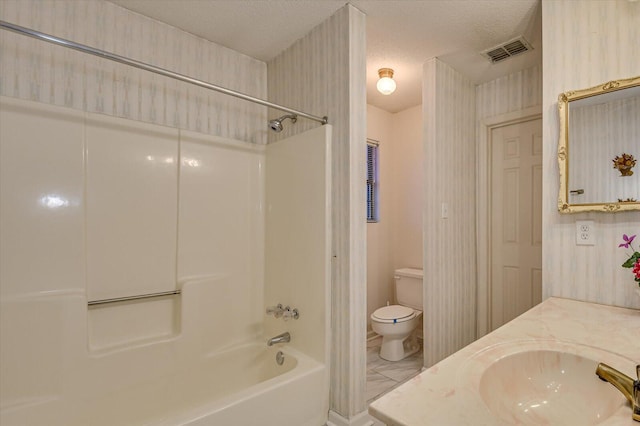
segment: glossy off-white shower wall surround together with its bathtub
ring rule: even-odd
[[[0,423],[326,421],[330,126],[262,146],[6,97],[0,120]]]

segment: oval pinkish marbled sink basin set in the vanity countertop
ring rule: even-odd
[[[557,350],[509,354],[484,370],[479,393],[507,424],[595,425],[626,403],[595,375],[598,362]]]

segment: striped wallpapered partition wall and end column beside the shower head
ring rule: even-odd
[[[332,286],[329,424],[366,414],[366,17],[351,5],[268,63],[269,100],[327,114],[332,135]],[[278,111],[270,111],[276,117]],[[316,127],[298,120],[269,137]]]

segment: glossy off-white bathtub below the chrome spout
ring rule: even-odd
[[[319,426],[328,413],[325,365],[264,342],[219,352],[124,389],[4,407],[10,425]],[[278,365],[276,354],[284,362]]]

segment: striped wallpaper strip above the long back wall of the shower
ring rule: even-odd
[[[266,98],[266,64],[102,0],[2,0],[0,19]],[[265,143],[267,110],[0,30],[0,95]]]

